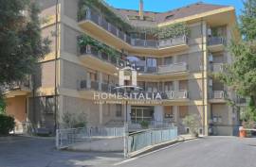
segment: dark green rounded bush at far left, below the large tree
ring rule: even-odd
[[[8,135],[14,129],[14,118],[8,115],[0,114],[0,135]]]

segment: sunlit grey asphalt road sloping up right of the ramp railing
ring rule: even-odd
[[[256,138],[209,137],[183,142],[119,167],[256,167]]]

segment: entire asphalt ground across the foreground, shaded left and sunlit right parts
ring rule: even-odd
[[[208,137],[136,159],[54,149],[54,139],[0,137],[0,167],[256,167],[256,138]]]

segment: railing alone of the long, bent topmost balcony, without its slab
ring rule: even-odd
[[[97,12],[87,9],[85,13],[84,20],[89,20],[96,25],[101,26],[106,31],[110,32],[112,35],[118,37],[123,42],[127,42],[132,46],[137,47],[147,47],[147,48],[164,48],[171,47],[175,45],[187,44],[187,37],[180,36],[173,39],[167,40],[141,40],[141,39],[132,39],[129,35],[122,32],[115,25],[111,25],[104,18],[100,16]]]

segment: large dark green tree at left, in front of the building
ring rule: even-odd
[[[49,40],[41,38],[39,12],[30,0],[0,0],[0,85],[32,74],[38,59],[49,52]]]

